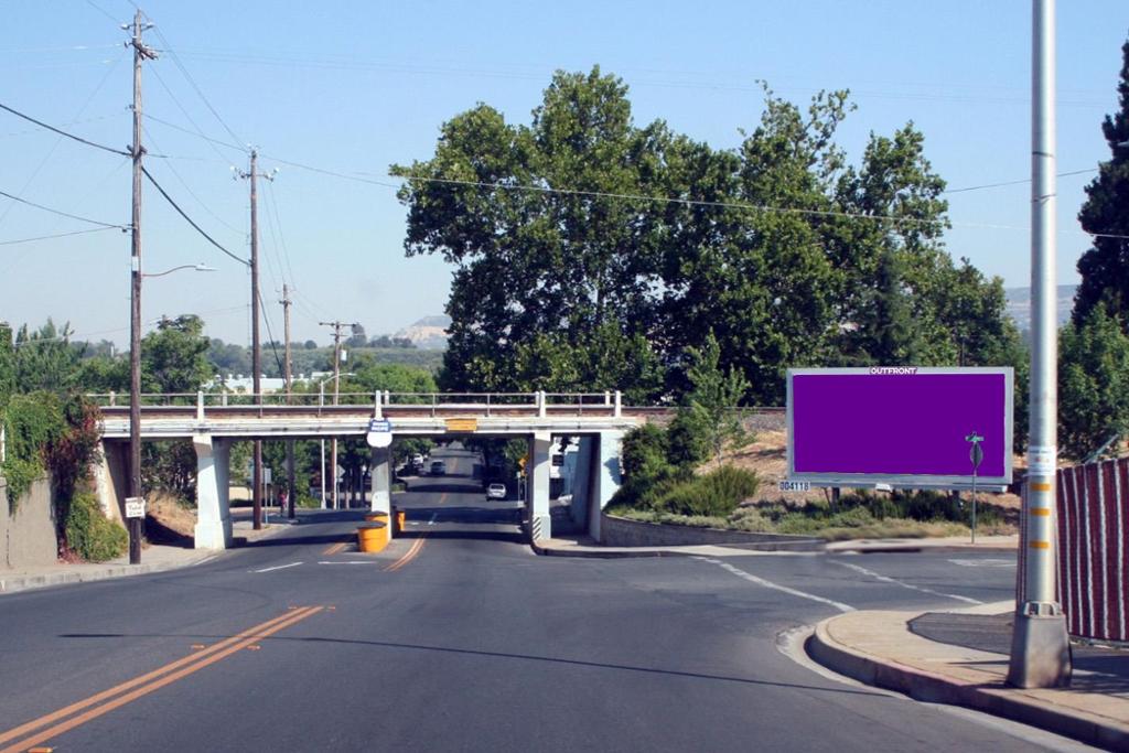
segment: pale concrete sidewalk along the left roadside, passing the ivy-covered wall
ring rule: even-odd
[[[273,519],[264,527],[255,531],[250,519],[233,520],[231,529],[236,540],[236,545],[248,541],[259,541],[287,531],[291,523]],[[123,578],[126,576],[145,575],[148,572],[161,572],[199,564],[204,560],[213,559],[224,552],[212,552],[208,550],[187,549],[184,546],[169,546],[164,544],[149,544],[141,550],[141,562],[130,564],[129,554],[108,560],[106,562],[52,562],[28,568],[0,568],[0,595],[29,588],[45,588],[49,586],[62,586],[75,583],[89,583],[94,580],[105,580],[107,578]]]

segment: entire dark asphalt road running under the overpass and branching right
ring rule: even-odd
[[[778,648],[843,608],[1007,598],[1001,555],[539,558],[447,458],[380,554],[350,551],[359,513],[314,513],[194,568],[0,597],[0,751],[1079,748]]]

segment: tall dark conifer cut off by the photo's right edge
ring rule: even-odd
[[[1102,122],[1102,135],[1112,152],[1086,186],[1078,221],[1094,234],[1094,245],[1078,260],[1082,283],[1074,299],[1074,322],[1104,306],[1129,326],[1129,42],[1121,47],[1119,110]]]

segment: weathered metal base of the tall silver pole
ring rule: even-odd
[[[1066,615],[1052,602],[1026,602],[1015,614],[1007,684],[1014,688],[1067,688],[1070,637]]]

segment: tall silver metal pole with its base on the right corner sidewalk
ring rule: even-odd
[[[1066,618],[1054,596],[1058,456],[1058,291],[1054,277],[1054,0],[1034,0],[1031,123],[1031,413],[1023,515],[1026,559],[1008,683],[1070,683]]]

